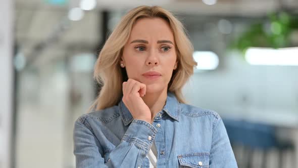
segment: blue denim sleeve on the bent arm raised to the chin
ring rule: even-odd
[[[134,119],[121,143],[105,161],[102,146],[98,141],[101,137],[95,137],[90,125],[84,122],[87,121],[77,120],[74,125],[76,167],[141,167],[157,133],[151,123]]]

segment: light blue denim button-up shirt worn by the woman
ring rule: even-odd
[[[120,101],[81,115],[73,139],[76,167],[149,167],[154,141],[157,167],[237,167],[218,113],[182,104],[170,92],[152,124],[134,119]]]

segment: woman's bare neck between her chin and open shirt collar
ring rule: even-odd
[[[146,93],[146,95],[142,97],[142,99],[144,103],[150,108],[152,123],[155,115],[160,112],[166,104],[167,89],[158,93]]]

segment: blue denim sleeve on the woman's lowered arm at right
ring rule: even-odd
[[[237,167],[236,159],[222,119],[219,117],[214,125],[210,151],[210,167]]]

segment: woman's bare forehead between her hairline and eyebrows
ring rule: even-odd
[[[141,18],[132,27],[129,41],[135,38],[145,40],[171,40],[174,35],[167,21],[162,18]]]

